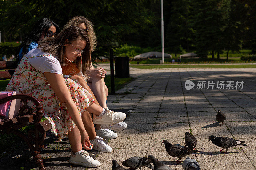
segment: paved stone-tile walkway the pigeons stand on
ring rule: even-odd
[[[196,149],[202,151],[189,157],[196,159],[202,169],[255,169],[256,69],[143,69],[133,70],[130,75],[136,80],[119,90],[119,95],[110,95],[108,108],[130,109],[133,113],[125,120],[127,129],[117,132],[118,138],[108,143],[113,152],[97,157],[102,164],[98,170],[111,169],[113,159],[121,164],[129,157],[149,154],[173,169],[182,169],[161,142],[167,139],[185,145],[184,133],[189,130],[198,141]],[[195,83],[194,89],[185,89],[186,80]],[[204,90],[196,89],[200,80],[206,81]],[[208,81],[218,80],[244,81],[243,89],[206,89]],[[227,116],[223,126],[215,120],[218,109]],[[235,137],[245,140],[247,146],[221,154],[217,152],[219,147],[208,142],[210,135]]]

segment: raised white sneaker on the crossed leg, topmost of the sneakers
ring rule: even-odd
[[[106,113],[101,117],[93,115],[94,124],[115,124],[122,122],[126,118],[126,114],[123,112],[113,112],[106,108]]]

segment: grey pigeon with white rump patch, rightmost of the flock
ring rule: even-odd
[[[237,145],[247,146],[246,144],[244,144],[245,141],[240,141],[240,140],[236,140],[236,139],[229,138],[229,137],[216,137],[214,135],[211,135],[211,136],[209,136],[209,141],[210,140],[216,146],[226,149],[226,152],[223,152],[223,153],[227,153],[228,148],[233,147],[233,146],[237,146]],[[220,152],[223,151],[223,149],[220,150]]]

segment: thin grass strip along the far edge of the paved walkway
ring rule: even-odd
[[[161,69],[161,68],[256,68],[254,65],[130,65],[138,69]]]

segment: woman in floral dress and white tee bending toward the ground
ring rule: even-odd
[[[98,167],[92,159],[88,134],[81,116],[85,110],[94,114],[95,124],[118,123],[126,118],[122,112],[113,112],[94,103],[91,94],[78,83],[63,78],[61,65],[66,59],[73,61],[85,75],[90,61],[90,44],[83,30],[76,26],[62,30],[57,36],[38,43],[38,47],[23,57],[6,90],[30,94],[42,102],[44,116],[52,124],[52,131],[61,141],[68,135],[72,148],[69,162],[88,167]],[[34,107],[32,103],[30,106]]]

